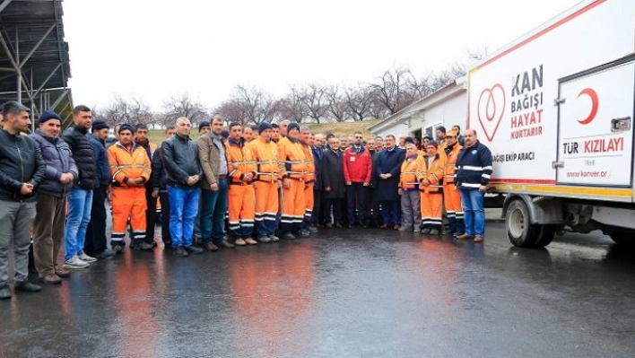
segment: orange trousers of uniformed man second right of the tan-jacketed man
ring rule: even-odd
[[[273,235],[275,216],[278,214],[278,182],[257,180],[256,192],[256,233],[258,237]]]

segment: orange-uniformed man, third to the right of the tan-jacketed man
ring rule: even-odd
[[[294,240],[296,236],[309,236],[306,232],[302,232],[302,221],[306,209],[304,185],[308,171],[307,158],[298,141],[300,126],[291,122],[286,132],[286,136],[278,142],[278,165],[280,175],[283,177],[284,197],[280,231],[283,233],[283,239]]]

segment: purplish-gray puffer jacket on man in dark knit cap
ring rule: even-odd
[[[44,135],[39,129],[29,135],[42,152],[42,158],[46,163],[44,179],[39,183],[38,191],[50,196],[65,197],[73,188],[73,182],[62,184],[59,179],[63,173],[73,173],[74,178],[79,177],[77,166],[71,153],[71,148],[62,138],[51,138]]]

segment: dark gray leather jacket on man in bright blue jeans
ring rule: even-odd
[[[174,135],[164,141],[161,148],[163,148],[165,172],[168,174],[168,185],[189,188],[187,178],[203,175],[201,165],[198,163],[198,148],[189,136],[182,138]]]

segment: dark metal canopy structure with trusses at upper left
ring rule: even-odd
[[[0,103],[18,100],[35,119],[55,110],[65,127],[73,97],[62,1],[0,0]]]

